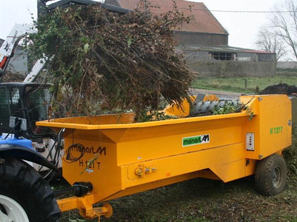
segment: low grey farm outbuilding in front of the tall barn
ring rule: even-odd
[[[265,76],[276,74],[276,54],[215,45],[180,46],[193,72],[200,76]]]

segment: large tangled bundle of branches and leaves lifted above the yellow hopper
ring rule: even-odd
[[[118,14],[98,5],[55,9],[27,38],[34,59],[46,58],[56,116],[157,109],[160,100],[190,100],[193,80],[172,29],[189,17],[173,4],[161,16]]]

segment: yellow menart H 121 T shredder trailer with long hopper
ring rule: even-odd
[[[79,185],[76,196],[57,200],[60,210],[108,218],[108,200],[197,177],[226,183],[255,174],[260,193],[282,192],[291,101],[265,95],[242,96],[240,102],[246,111],[143,123],[134,123],[132,113],[38,122],[64,129],[63,177]],[[189,105],[171,111],[186,115]],[[100,202],[105,204],[93,207]]]

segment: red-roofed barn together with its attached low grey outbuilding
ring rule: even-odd
[[[141,8],[160,15],[172,10],[172,0],[105,0],[126,9]],[[202,2],[176,0],[192,21],[173,30],[194,72],[202,76],[274,75],[276,54],[228,45],[228,32]],[[189,8],[191,7],[191,10]]]

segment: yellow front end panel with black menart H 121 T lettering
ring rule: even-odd
[[[63,177],[72,185],[75,182],[91,182],[94,186],[94,199],[99,202],[118,190],[121,190],[121,169],[117,166],[116,144],[100,140],[101,133],[97,131],[97,138],[84,138],[82,130],[66,129],[65,148],[72,144],[83,145],[86,149],[83,157],[73,163],[63,158]],[[91,131],[92,132],[92,131]],[[95,133],[95,132],[93,132]],[[76,157],[80,152],[74,148],[72,152]],[[94,160],[94,157],[97,159]],[[66,155],[64,156],[66,157]],[[94,160],[88,165],[88,161]]]

